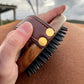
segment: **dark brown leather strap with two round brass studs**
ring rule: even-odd
[[[48,23],[44,22],[37,16],[26,17],[16,26],[16,28],[27,21],[33,25],[33,34],[31,36],[31,41],[40,48],[44,48],[54,36],[54,34],[52,33],[55,30]]]

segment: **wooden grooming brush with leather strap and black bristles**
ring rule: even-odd
[[[27,21],[33,25],[33,34],[22,49],[17,64],[19,73],[25,71],[28,76],[31,76],[52,56],[60,45],[59,42],[63,41],[67,28],[63,26],[66,21],[63,15],[53,18],[50,24],[37,16],[28,16],[16,28]]]

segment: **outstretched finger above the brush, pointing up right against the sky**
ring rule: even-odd
[[[54,17],[63,13],[65,8],[66,8],[65,5],[62,5],[62,6],[56,7],[54,9],[44,13],[44,14],[38,15],[38,17],[46,22],[50,22]]]

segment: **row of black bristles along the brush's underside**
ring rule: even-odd
[[[31,76],[31,73],[34,74],[46,61],[51,57],[52,53],[55,52],[57,46],[60,45],[60,41],[63,41],[63,37],[66,34],[67,28],[62,27],[58,33],[54,36],[51,42],[44,48],[40,55],[32,62],[32,64],[26,69],[28,76]]]

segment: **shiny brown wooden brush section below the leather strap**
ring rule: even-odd
[[[42,49],[36,44],[32,44],[28,50],[17,61],[19,66],[19,74],[24,72],[34,59],[41,53]]]

